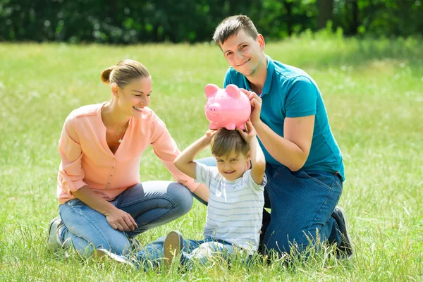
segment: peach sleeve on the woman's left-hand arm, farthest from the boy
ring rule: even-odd
[[[78,134],[73,128],[73,122],[74,117],[66,118],[59,140],[61,164],[58,181],[69,195],[87,185],[83,180],[85,174],[81,166],[82,149]]]

